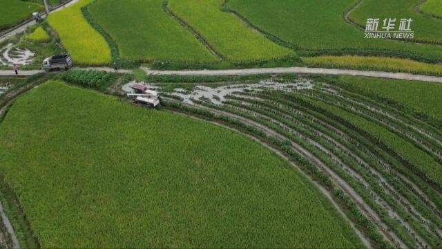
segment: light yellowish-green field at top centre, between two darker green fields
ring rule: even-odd
[[[169,0],[169,9],[230,62],[260,62],[294,56],[287,48],[255,33],[221,8],[225,0]]]

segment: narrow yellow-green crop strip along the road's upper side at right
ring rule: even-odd
[[[302,58],[308,66],[325,68],[367,69],[372,71],[405,72],[442,75],[442,65],[416,62],[410,59],[363,56],[318,56]]]

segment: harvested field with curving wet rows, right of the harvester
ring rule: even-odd
[[[434,93],[416,104],[417,98],[407,100],[411,91],[420,99]],[[163,105],[228,123],[282,151],[343,200],[341,208],[372,247],[440,248],[442,122],[418,114],[430,102],[439,104],[431,96],[440,91],[440,84],[424,82],[276,77],[178,89]]]

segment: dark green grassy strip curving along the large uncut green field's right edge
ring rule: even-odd
[[[211,113],[210,111],[205,111],[202,109],[195,109],[192,107],[188,107],[185,105],[182,105],[180,103],[176,102],[166,102],[166,107],[171,107],[173,109],[177,109],[180,111],[184,111],[186,113],[192,113],[193,115],[204,117],[204,118],[210,118],[213,120],[221,121],[227,125],[231,125],[233,127],[236,127],[236,129],[240,129],[246,133],[251,134],[252,136],[256,136],[257,138],[260,138],[260,140],[264,140],[265,142],[269,143],[273,147],[276,147],[280,149],[284,154],[289,156],[291,160],[294,160],[298,166],[301,167],[301,169],[310,176],[314,178],[315,181],[318,181],[320,185],[323,185],[327,190],[331,191],[332,194],[334,194],[334,198],[338,199],[338,203],[344,204],[344,211],[349,215],[351,219],[356,221],[358,224],[358,227],[361,228],[369,238],[372,239],[375,243],[377,243],[382,248],[391,248],[391,245],[383,240],[383,237],[379,232],[376,230],[376,227],[369,221],[361,212],[361,210],[358,209],[357,205],[341,190],[338,190],[330,178],[318,167],[313,165],[309,162],[306,158],[303,156],[300,156],[296,151],[294,151],[291,148],[291,145],[287,141],[281,141],[277,138],[273,138],[271,136],[267,136],[264,132],[262,132],[260,129],[256,129],[254,127],[249,126],[248,124],[244,124],[243,122],[240,122],[238,120],[235,120],[233,118],[229,118],[227,116],[221,116],[218,114]],[[244,113],[242,113],[242,116],[244,116]],[[248,116],[248,118],[251,118]],[[256,120],[256,118],[252,118],[252,120]],[[258,120],[256,120],[258,121]],[[261,120],[262,122],[262,120]],[[273,127],[275,128],[275,127]]]

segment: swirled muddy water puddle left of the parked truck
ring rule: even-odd
[[[0,50],[0,64],[6,66],[32,64],[34,55],[35,53],[28,49],[17,48],[12,44],[8,44]]]

